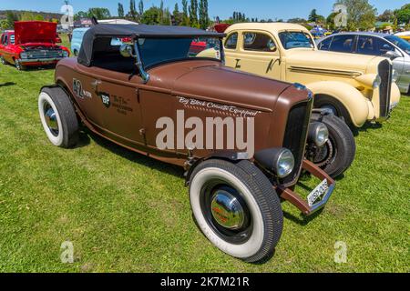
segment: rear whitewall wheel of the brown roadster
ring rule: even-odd
[[[50,109],[51,113],[48,111]],[[64,148],[76,146],[77,115],[69,96],[62,88],[43,88],[38,96],[38,111],[46,135],[53,145]],[[47,124],[47,119],[53,123],[51,126],[50,122]]]

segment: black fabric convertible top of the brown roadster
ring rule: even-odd
[[[186,26],[170,25],[94,25],[83,37],[77,62],[91,65],[96,52],[112,50],[112,37],[131,38],[183,38],[183,37],[224,37],[225,34],[208,32]],[[114,48],[118,49],[118,48]]]

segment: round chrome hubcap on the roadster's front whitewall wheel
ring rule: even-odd
[[[228,229],[240,229],[245,221],[243,207],[238,199],[224,190],[217,190],[212,196],[211,213],[215,221]]]

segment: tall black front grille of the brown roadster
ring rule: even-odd
[[[293,183],[300,173],[312,106],[313,99],[294,105],[289,112],[283,147],[292,151],[294,156],[294,168],[289,176],[280,180],[282,185]]]

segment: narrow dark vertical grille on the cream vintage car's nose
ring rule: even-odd
[[[392,90],[393,67],[388,60],[380,62],[378,71],[382,80],[380,84],[380,117],[387,117],[390,113],[390,95]]]

